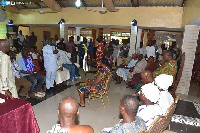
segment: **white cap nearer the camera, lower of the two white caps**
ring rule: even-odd
[[[142,86],[142,94],[151,102],[156,103],[160,98],[160,91],[154,83],[145,84]]]

